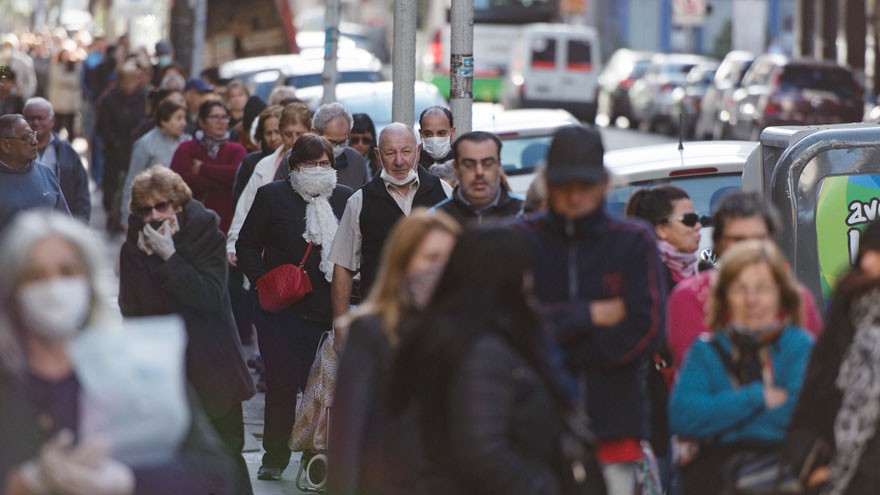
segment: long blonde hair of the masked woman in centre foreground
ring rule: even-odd
[[[442,211],[424,208],[414,209],[408,217],[397,222],[385,241],[376,283],[367,299],[352,314],[353,319],[378,316],[392,346],[397,345],[401,316],[413,309],[403,287],[406,269],[425,237],[435,230],[458,237],[461,226]]]

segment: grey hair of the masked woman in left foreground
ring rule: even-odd
[[[46,210],[25,211],[9,223],[0,237],[0,370],[17,375],[25,370],[20,331],[12,319],[16,291],[30,267],[30,253],[40,241],[57,236],[69,242],[86,267],[92,294],[86,327],[109,322],[113,313],[107,305],[107,292],[101,287],[99,273],[103,254],[88,228],[67,215]],[[46,308],[51,311],[51,308]]]

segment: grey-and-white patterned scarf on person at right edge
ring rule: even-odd
[[[880,419],[880,291],[874,290],[853,305],[850,319],[853,341],[840,363],[835,385],[843,400],[834,419],[835,453],[824,495],[846,491]]]

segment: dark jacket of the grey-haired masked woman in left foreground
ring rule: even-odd
[[[0,486],[6,485],[9,474],[21,463],[34,459],[40,448],[57,433],[43,411],[28,398],[27,385],[9,376],[0,375]],[[58,406],[55,404],[54,406]],[[76,406],[69,404],[68,406]],[[233,463],[221,447],[204,412],[196,401],[190,401],[192,423],[177,452],[168,462],[151,467],[135,468],[135,495],[233,495]],[[56,408],[52,413],[75,416],[69,407]],[[56,418],[60,419],[60,418]],[[75,421],[61,421],[76,424]]]

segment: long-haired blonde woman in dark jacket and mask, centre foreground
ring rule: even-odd
[[[418,494],[415,417],[382,406],[391,355],[428,302],[461,227],[443,212],[415,210],[395,225],[369,297],[352,314],[339,363],[330,429],[328,492]]]

